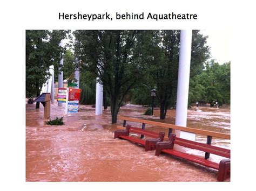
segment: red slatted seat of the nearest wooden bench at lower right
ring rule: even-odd
[[[205,160],[204,158],[200,158],[200,157],[197,157],[195,155],[186,154],[186,153],[183,153],[183,152],[179,152],[179,151],[176,151],[176,150],[170,150],[170,149],[164,149],[164,150],[161,150],[161,151],[164,152],[164,153],[167,153],[167,154],[174,155],[174,156],[179,157],[179,158],[183,158],[183,159],[186,159],[186,160],[190,160],[192,162],[196,162],[198,164],[201,164],[201,165],[204,165],[204,166],[207,166],[207,167],[211,167],[211,168],[214,168],[214,169],[219,169],[219,164],[218,163],[212,162],[210,160]]]

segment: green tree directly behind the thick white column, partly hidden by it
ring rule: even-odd
[[[180,30],[158,31],[153,36],[151,46],[146,49],[148,73],[153,80],[152,84],[157,86],[160,119],[164,119],[167,109],[176,105]],[[204,61],[210,56],[206,39],[198,30],[192,31],[190,76],[199,73]]]

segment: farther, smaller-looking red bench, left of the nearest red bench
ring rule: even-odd
[[[142,139],[138,139],[135,137],[131,137],[131,136],[129,136],[130,132],[137,133],[139,135],[144,135],[147,137],[152,137],[154,139],[142,140]],[[130,142],[143,145],[143,146],[145,146],[145,151],[154,150],[156,143],[163,141],[164,135],[165,135],[164,132],[156,133],[156,132],[148,131],[145,129],[134,128],[131,125],[126,125],[125,130],[114,131],[114,138],[122,138],[122,139],[129,140]]]

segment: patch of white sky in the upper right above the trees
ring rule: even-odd
[[[210,46],[212,58],[222,65],[231,61],[231,33],[228,30],[201,30],[208,36],[207,45]]]

